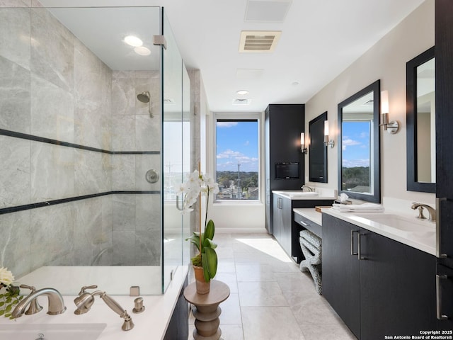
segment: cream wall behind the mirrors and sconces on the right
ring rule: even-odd
[[[426,0],[305,106],[305,130],[308,130],[310,120],[328,111],[331,137],[337,142],[338,103],[381,79],[381,89],[389,91],[390,118],[401,123],[401,130],[396,135],[381,131],[381,189],[384,199],[435,202],[432,193],[406,190],[406,62],[435,44],[434,8],[435,1]],[[335,62],[334,58],[332,62]],[[337,188],[337,169],[338,148],[328,148],[328,183],[308,184]],[[305,171],[308,174],[308,162]]]

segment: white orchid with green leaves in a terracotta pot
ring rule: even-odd
[[[188,181],[183,183],[178,190],[178,193],[183,193],[183,213],[193,211],[193,204],[200,198],[202,194],[206,195],[206,213],[205,213],[205,229],[202,231],[202,223],[200,216],[199,231],[193,232],[191,237],[185,239],[195,244],[198,254],[191,260],[195,271],[195,282],[197,285],[197,293],[207,294],[210,291],[210,282],[217,273],[217,253],[214,238],[214,221],[207,220],[207,211],[210,203],[210,193],[218,193],[219,185],[215,183],[210,176],[200,173],[195,170],[190,174]],[[201,214],[200,214],[201,215]]]

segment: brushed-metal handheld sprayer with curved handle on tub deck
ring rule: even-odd
[[[134,328],[134,322],[132,322],[132,318],[129,314],[127,314],[127,310],[123,310],[122,307],[118,302],[113,300],[112,297],[105,294],[101,290],[96,290],[93,293],[88,293],[86,289],[94,289],[98,288],[97,285],[88,285],[81,288],[79,296],[74,299],[74,303],[76,304],[77,309],[75,310],[74,314],[85,314],[88,312],[93,305],[95,295],[99,295],[102,300],[104,300],[105,304],[113,310],[113,312],[117,313],[125,319],[125,322],[122,324],[121,329],[123,331],[129,331],[130,329]]]

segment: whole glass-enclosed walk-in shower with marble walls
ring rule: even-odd
[[[0,5],[0,267],[68,295],[164,293],[189,263],[193,154],[164,8],[48,1]]]

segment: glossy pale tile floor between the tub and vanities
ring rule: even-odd
[[[356,339],[316,293],[309,273],[300,272],[273,237],[217,232],[215,242],[219,245],[215,279],[231,290],[220,305],[222,339]],[[189,339],[193,322],[190,315]]]

